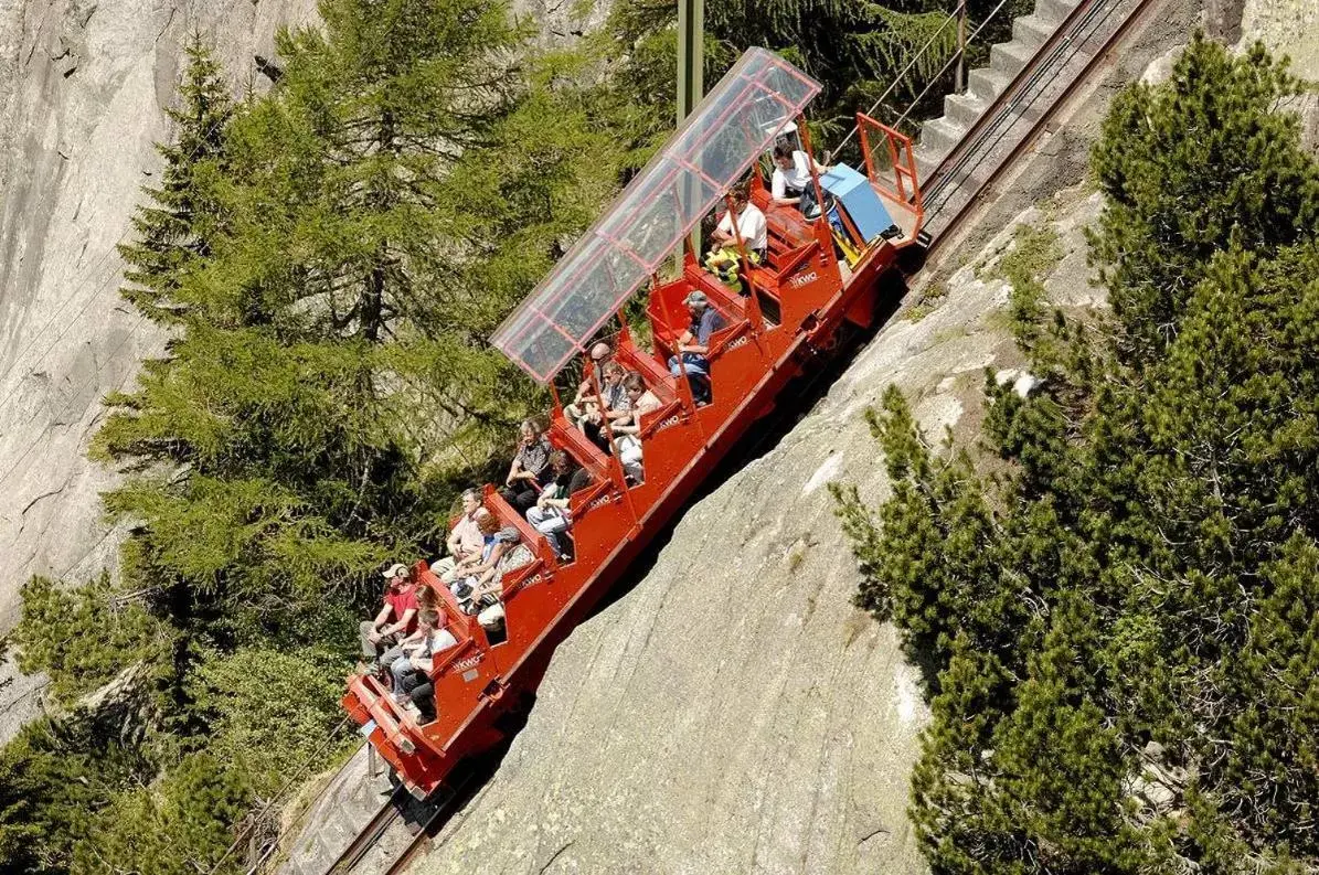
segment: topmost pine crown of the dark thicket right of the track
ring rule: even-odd
[[[1319,220],[1319,170],[1278,101],[1301,84],[1262,45],[1244,55],[1196,36],[1162,86],[1120,94],[1092,155],[1108,196],[1095,236],[1125,361],[1174,336],[1175,314],[1216,250],[1286,246]]]

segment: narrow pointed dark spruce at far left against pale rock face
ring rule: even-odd
[[[233,117],[228,84],[210,45],[194,32],[178,88],[178,107],[165,109],[174,125],[169,144],[156,144],[165,159],[160,187],[145,187],[149,204],[132,219],[136,240],[119,246],[128,262],[123,290],[144,315],[162,323],[183,312],[179,286],[212,250],[226,210],[216,182],[226,170],[226,133]]]

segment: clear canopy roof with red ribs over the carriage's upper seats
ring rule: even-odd
[[[749,49],[491,343],[550,382],[819,90],[774,53]]]

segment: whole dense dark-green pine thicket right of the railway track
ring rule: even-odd
[[[835,490],[860,602],[936,673],[934,871],[1319,867],[1319,170],[1262,51],[1196,41],[1177,70],[1095,152],[1103,341],[1055,320],[1018,335],[1042,390],[987,381],[1006,473],[931,453],[889,390],[892,497]],[[1046,249],[1005,260],[1018,290]]]

